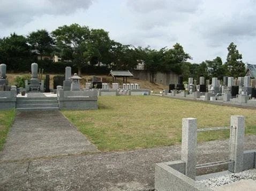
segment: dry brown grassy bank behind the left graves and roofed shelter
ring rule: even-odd
[[[7,74],[7,79],[9,81],[9,85],[15,85],[15,78],[17,76],[24,76],[27,75],[29,76],[29,74]],[[43,77],[45,75],[43,74]],[[50,89],[53,88],[53,77],[56,76],[55,74],[50,74]],[[91,75],[82,75],[81,76],[82,79],[80,81],[81,87],[85,87],[85,83],[86,81],[92,81],[92,76]],[[102,82],[103,83],[112,83],[112,77],[111,76],[106,76],[106,75],[99,75],[96,76],[97,78],[101,79],[102,78]],[[117,78],[117,82],[121,85],[123,84],[123,78]],[[154,92],[159,92],[162,91],[163,89],[168,89],[167,85],[162,85],[162,84],[154,84],[154,83],[150,83],[148,81],[141,81],[139,79],[134,79],[134,78],[128,78],[127,79],[127,83],[133,83],[133,84],[140,84],[140,87],[142,89],[150,89],[151,91]]]

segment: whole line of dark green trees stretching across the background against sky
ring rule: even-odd
[[[132,70],[138,63],[143,63],[150,73],[150,81],[154,82],[157,71],[174,72],[184,79],[193,77],[206,79],[223,76],[244,76],[245,64],[242,54],[234,43],[228,46],[227,60],[223,63],[220,57],[205,60],[201,63],[191,63],[189,53],[186,53],[179,43],[171,49],[163,47],[155,50],[148,47],[123,45],[110,39],[103,29],[90,29],[74,23],[70,26],[58,27],[51,33],[45,29],[32,31],[27,36],[11,34],[0,38],[0,62],[6,63],[9,70],[24,71],[24,66],[38,61],[43,55],[58,55],[62,61],[69,61],[81,75],[85,66],[95,66],[104,63],[109,69]],[[51,60],[48,61],[51,65]]]

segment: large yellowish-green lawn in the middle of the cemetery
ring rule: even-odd
[[[181,142],[182,118],[198,119],[198,128],[229,126],[243,115],[246,134],[256,134],[256,110],[154,96],[99,97],[99,109],[62,113],[103,151],[174,145]],[[229,130],[198,133],[198,141],[229,137]]]

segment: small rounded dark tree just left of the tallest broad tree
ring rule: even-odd
[[[27,36],[27,42],[31,45],[32,50],[37,51],[42,60],[42,55],[51,55],[54,52],[54,39],[49,35],[47,30],[33,31]]]

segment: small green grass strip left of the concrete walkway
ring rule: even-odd
[[[15,110],[0,111],[0,151],[3,149],[9,128],[15,117]]]

